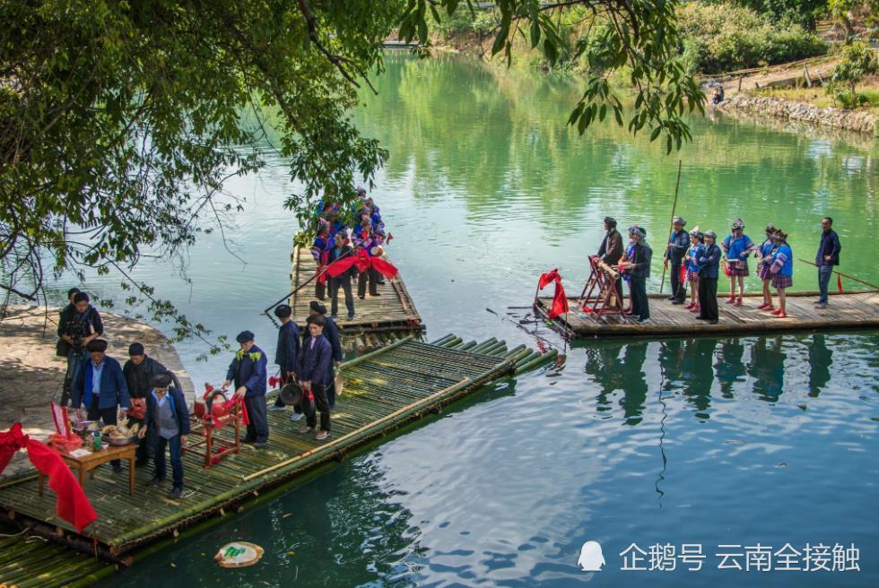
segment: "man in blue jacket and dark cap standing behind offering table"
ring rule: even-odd
[[[103,421],[104,425],[117,424],[118,416],[126,418],[130,399],[126,376],[116,359],[107,355],[107,342],[94,339],[86,345],[89,357],[83,359],[71,395],[71,406],[80,416]],[[119,460],[110,462],[113,471],[122,471]]]

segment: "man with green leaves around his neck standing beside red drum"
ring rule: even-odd
[[[257,347],[254,335],[250,331],[242,331],[235,337],[241,349],[229,364],[226,381],[222,389],[229,389],[235,383],[235,398],[243,398],[248,410],[250,422],[245,443],[252,443],[257,449],[268,445],[268,418],[265,406],[265,352]]]

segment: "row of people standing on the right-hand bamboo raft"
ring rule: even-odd
[[[787,318],[786,291],[793,286],[794,254],[788,244],[788,234],[782,229],[768,225],[765,238],[757,245],[744,233],[744,221],[735,219],[729,234],[718,244],[713,230],[702,232],[698,227],[689,232],[684,229],[686,220],[675,216],[666,245],[663,264],[670,269],[671,296],[674,305],[686,303],[687,284],[690,285],[690,304],[686,308],[698,320],[718,324],[718,279],[723,272],[729,279],[727,304],[741,307],[744,298],[744,278],[750,274],[749,258],[756,257],[757,275],[762,280],[762,304],[759,310],[771,316]],[[832,229],[831,217],[822,219],[822,237],[815,255],[818,266],[820,297],[818,307],[828,304],[828,284],[833,266],[840,264],[840,238]],[[616,229],[613,217],[605,218],[605,238],[597,257],[605,264],[620,271],[622,280],[616,282],[616,294],[622,300],[622,281],[629,283],[631,307],[627,315],[637,317],[639,323],[650,318],[647,279],[653,251],[647,243],[647,230],[638,225],[629,229],[629,242],[622,246],[622,236]],[[771,289],[778,293],[778,307]]]

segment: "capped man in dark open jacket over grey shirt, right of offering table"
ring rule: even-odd
[[[152,376],[152,391],[147,395],[146,419],[137,435],[141,439],[147,435],[152,438],[155,474],[148,482],[150,486],[158,487],[165,480],[165,448],[168,448],[174,484],[168,497],[179,498],[183,493],[182,449],[189,435],[189,411],[183,393],[171,385],[170,374]]]

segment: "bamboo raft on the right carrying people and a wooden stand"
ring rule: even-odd
[[[776,318],[758,310],[762,294],[745,294],[741,307],[725,303],[718,294],[720,319],[718,324],[696,320],[696,315],[684,308],[673,305],[665,295],[651,294],[650,320],[638,324],[630,317],[592,316],[580,311],[576,298],[569,298],[570,312],[558,316],[553,327],[574,338],[583,337],[679,337],[694,334],[714,333],[766,333],[784,331],[829,331],[852,328],[879,327],[879,290],[831,292],[830,304],[817,308],[814,301],[817,292],[789,292],[788,318]],[[778,298],[773,292],[778,305]],[[535,311],[547,318],[547,311],[553,298],[540,297],[535,301]]]

